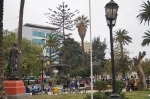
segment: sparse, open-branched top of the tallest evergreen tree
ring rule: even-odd
[[[62,2],[58,7],[57,10],[52,10],[48,8],[49,12],[45,13],[49,21],[47,23],[57,26],[58,33],[63,33],[62,37],[65,40],[65,30],[74,30],[74,19],[73,17],[79,13],[78,10],[71,12],[71,9],[68,8],[68,4]]]

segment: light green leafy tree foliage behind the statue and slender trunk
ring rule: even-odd
[[[13,42],[17,42],[16,33],[13,33],[8,30],[3,31],[3,43],[4,43],[4,64],[5,64],[5,71],[8,69],[8,55],[10,48]],[[23,38],[22,41],[22,54],[23,54],[23,74],[24,75],[39,75],[41,64],[39,61],[36,60],[36,56],[42,52],[42,48],[33,43],[32,41]],[[7,72],[5,72],[7,74]]]

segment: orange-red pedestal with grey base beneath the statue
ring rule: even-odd
[[[8,99],[20,99],[23,96],[27,96],[22,80],[6,80],[4,81],[4,86]]]

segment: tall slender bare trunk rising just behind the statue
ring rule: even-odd
[[[22,50],[22,25],[23,25],[23,9],[25,0],[20,2],[20,12],[19,12],[19,26],[18,26],[18,49]],[[18,73],[19,79],[22,79],[22,53],[20,53],[18,58]]]

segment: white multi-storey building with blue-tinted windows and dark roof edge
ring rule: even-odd
[[[44,40],[44,37],[47,37],[49,33],[52,33],[55,30],[57,30],[57,28],[26,23],[22,27],[22,37],[25,37],[31,40],[33,43],[38,43],[42,46],[46,43],[46,40]],[[15,29],[16,33],[17,31],[18,29]],[[43,50],[44,55],[49,56],[49,52],[50,52],[49,48],[45,48]]]

